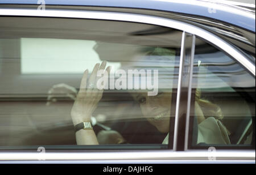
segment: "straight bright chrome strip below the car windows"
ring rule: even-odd
[[[10,160],[251,160],[255,161],[255,150],[216,150],[209,152],[201,151],[170,151],[170,150],[147,150],[147,151],[98,151],[90,152],[1,152],[1,161]],[[210,161],[210,160],[209,160]]]

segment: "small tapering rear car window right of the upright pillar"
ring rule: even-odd
[[[221,50],[196,39],[190,148],[255,145],[255,78]]]

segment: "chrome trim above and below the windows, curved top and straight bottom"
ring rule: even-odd
[[[157,16],[130,14],[125,12],[107,12],[107,11],[86,11],[86,10],[32,10],[32,9],[14,9],[14,8],[0,8],[1,16],[26,16],[26,17],[51,17],[51,18],[76,18],[76,19],[98,19],[98,20],[113,20],[122,22],[135,22],[144,24],[160,25],[163,27],[175,28],[183,32],[191,33],[199,36],[211,44],[218,46],[228,53],[234,59],[241,63],[254,77],[255,65],[251,63],[240,50],[237,50],[233,45],[229,44],[220,37],[213,35],[205,29],[196,27],[192,24],[180,22],[173,19],[167,19]],[[180,77],[179,77],[180,78]],[[177,118],[178,116],[175,116]],[[174,133],[175,134],[175,133]],[[187,136],[186,136],[187,138]],[[175,146],[176,147],[176,146]],[[187,160],[209,160],[209,152],[207,150],[195,151],[186,150],[158,150],[158,151],[105,151],[105,152],[48,152],[46,153],[46,160],[135,160],[137,163],[147,160],[167,160],[167,161],[187,161]],[[118,153],[118,154],[117,154]],[[38,152],[0,152],[1,161],[9,160],[38,160]],[[219,150],[216,152],[218,160],[220,161],[249,161],[255,163],[255,150]],[[63,158],[64,157],[64,158]],[[212,162],[212,161],[209,161]],[[134,163],[134,161],[133,161]]]

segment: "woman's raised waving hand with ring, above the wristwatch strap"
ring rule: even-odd
[[[84,75],[82,76],[80,90],[77,94],[75,103],[73,104],[73,108],[71,110],[71,117],[73,120],[73,124],[77,125],[81,122],[89,122],[92,113],[97,107],[98,102],[101,100],[103,89],[100,90],[97,88],[97,80],[100,78],[104,78],[108,81],[108,76],[102,75],[101,77],[97,77],[97,72],[99,70],[105,70],[106,61],[97,63],[94,66],[92,74],[90,78],[87,80],[88,70],[84,71]],[[108,75],[110,73],[110,67],[105,70]]]

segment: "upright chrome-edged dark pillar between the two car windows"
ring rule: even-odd
[[[187,150],[188,147],[188,125],[191,106],[194,53],[195,35],[183,32],[175,112],[174,151],[184,151]]]

